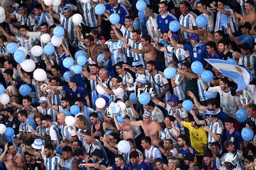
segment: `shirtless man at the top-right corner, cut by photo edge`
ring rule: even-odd
[[[240,14],[235,12],[237,26],[241,26],[244,22],[249,22],[250,24],[252,24],[252,28],[256,26],[256,12],[253,11],[253,8],[254,8],[254,1],[247,0],[245,2],[245,10],[247,14],[241,16]],[[255,32],[253,29],[251,30],[250,34],[255,35]]]

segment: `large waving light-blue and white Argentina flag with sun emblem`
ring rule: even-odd
[[[221,59],[205,59],[225,77],[231,78],[237,84],[236,92],[246,89],[251,81],[251,71],[232,62]],[[250,73],[249,73],[250,72]]]

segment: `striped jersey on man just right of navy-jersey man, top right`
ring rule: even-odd
[[[188,29],[194,29],[194,26],[197,26],[196,24],[196,18],[197,15],[194,14],[194,12],[189,12],[186,16],[181,15],[180,16],[180,24]],[[184,40],[188,41],[190,40],[190,34],[184,32],[184,30],[180,30],[181,31],[181,36]]]

